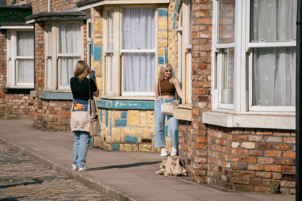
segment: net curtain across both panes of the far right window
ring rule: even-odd
[[[253,0],[251,40],[296,39],[296,0]],[[253,49],[253,105],[295,106],[296,48]]]

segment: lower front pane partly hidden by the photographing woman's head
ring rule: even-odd
[[[76,68],[76,62],[81,60],[81,57],[60,57],[59,64],[59,85],[69,86],[70,78],[74,77],[73,71]]]

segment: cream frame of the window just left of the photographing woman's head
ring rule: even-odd
[[[77,22],[81,24],[80,28],[80,34],[82,38],[82,45],[80,54],[64,54],[59,53],[59,23],[65,23],[65,22]],[[84,59],[84,28],[83,28],[83,20],[52,20],[45,22],[45,24],[51,23],[51,54],[47,54],[47,32],[45,31],[45,61],[47,61],[48,57],[51,57],[51,73],[52,73],[52,80],[51,80],[51,88],[48,88],[49,85],[47,85],[47,82],[49,80],[47,79],[47,71],[49,70],[47,68],[47,62],[45,62],[45,89],[44,91],[62,91],[62,92],[71,92],[70,86],[59,86],[59,73],[60,72],[60,66],[59,66],[59,58],[64,56],[77,56],[81,57],[81,60]],[[55,75],[55,76],[54,76]]]

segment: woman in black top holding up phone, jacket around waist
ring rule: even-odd
[[[75,133],[75,141],[72,149],[72,171],[89,171],[85,166],[88,145],[90,141],[89,119],[89,80],[90,93],[98,97],[100,91],[96,85],[96,80],[88,79],[89,67],[85,61],[78,61],[74,70],[74,76],[70,79],[70,88],[73,96],[73,104],[70,116],[71,132]],[[94,101],[91,102],[92,117],[95,117]]]

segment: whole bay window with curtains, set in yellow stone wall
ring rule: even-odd
[[[155,16],[155,6],[114,5],[104,8],[105,94],[155,95],[157,66]],[[121,83],[114,80],[121,80]]]

